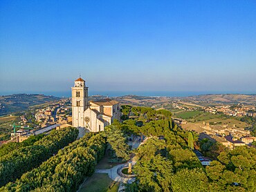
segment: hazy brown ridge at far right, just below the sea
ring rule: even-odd
[[[241,95],[241,94],[209,94],[196,95],[190,97],[183,97],[183,99],[190,99],[201,102],[212,102],[221,104],[256,104],[256,95]]]

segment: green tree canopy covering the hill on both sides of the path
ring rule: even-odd
[[[198,142],[196,133],[172,122],[170,111],[122,106],[122,113],[122,123],[115,121],[104,132],[88,133],[80,140],[75,141],[75,128],[66,128],[32,138],[9,154],[5,150],[13,146],[0,148],[1,185],[9,182],[0,191],[76,191],[106,151],[116,162],[136,155],[136,180],[126,191],[256,191],[255,148],[228,151],[208,140]],[[134,135],[147,141],[131,151],[127,142]],[[201,165],[195,144],[214,157],[210,166]]]

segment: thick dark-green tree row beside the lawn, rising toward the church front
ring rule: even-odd
[[[1,191],[76,191],[84,177],[92,175],[104,156],[102,134],[89,133],[61,149],[41,166],[25,173]]]

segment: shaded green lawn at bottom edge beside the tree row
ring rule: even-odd
[[[78,192],[116,192],[118,191],[119,183],[117,182],[111,189],[112,180],[109,178],[109,175],[102,173],[94,173],[91,177],[86,180]]]

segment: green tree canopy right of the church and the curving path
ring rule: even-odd
[[[214,143],[212,151],[207,148],[208,155],[217,160],[205,169],[192,151],[197,135],[172,124],[168,111],[124,108],[127,117],[129,113],[137,117],[127,119],[120,128],[151,137],[136,150],[137,177],[127,184],[127,191],[256,191],[255,148],[241,146],[228,151]],[[159,140],[161,137],[164,140]]]

